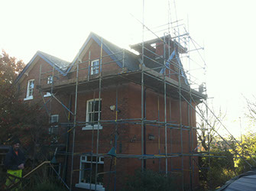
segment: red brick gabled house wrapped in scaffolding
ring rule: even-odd
[[[57,159],[73,189],[119,189],[141,168],[194,187],[193,108],[206,95],[190,89],[186,48],[168,37],[131,48],[138,53],[91,33],[71,63],[38,51],[15,81],[20,99],[41,102],[57,124],[49,134],[65,146]]]

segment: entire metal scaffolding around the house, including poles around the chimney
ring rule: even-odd
[[[64,170],[66,171],[68,156],[71,158],[71,170],[70,170],[70,190],[73,187],[73,173],[76,171],[81,171],[82,169],[74,169],[74,157],[75,156],[86,156],[91,157],[90,163],[90,177],[89,177],[89,189],[95,189],[97,186],[97,179],[103,174],[108,174],[109,178],[111,174],[114,174],[114,189],[117,179],[117,160],[126,158],[134,158],[141,160],[141,170],[145,170],[147,160],[156,159],[159,163],[160,173],[165,173],[169,175],[171,173],[178,173],[181,176],[181,189],[185,189],[185,175],[184,173],[189,172],[189,187],[193,189],[194,180],[195,180],[195,168],[199,168],[197,157],[215,157],[211,155],[210,149],[207,152],[199,153],[197,152],[198,145],[200,143],[195,142],[196,130],[198,129],[196,125],[193,125],[193,114],[197,114],[200,118],[203,118],[206,121],[206,131],[208,135],[206,139],[209,140],[209,131],[213,127],[208,122],[208,112],[209,107],[207,106],[207,95],[206,95],[206,86],[204,81],[197,79],[198,73],[206,73],[206,63],[201,56],[200,50],[203,50],[203,47],[200,47],[199,44],[190,37],[186,28],[183,24],[180,24],[180,21],[168,22],[168,24],[161,25],[160,27],[154,28],[156,31],[152,31],[147,28],[143,21],[140,21],[142,24],[143,37],[142,42],[139,44],[134,44],[131,46],[132,49],[138,51],[138,54],[141,57],[141,63],[138,65],[137,70],[130,70],[125,65],[125,60],[128,50],[122,49],[113,53],[104,54],[103,44],[104,39],[100,37],[100,53],[99,57],[91,58],[91,52],[89,52],[88,60],[81,60],[80,55],[76,59],[76,62],[72,66],[71,70],[66,72],[68,76],[65,80],[62,79],[61,73],[58,73],[53,66],[52,70],[42,72],[40,69],[39,75],[39,90],[41,92],[41,97],[44,100],[44,107],[48,113],[51,115],[52,112],[52,101],[55,100],[66,111],[67,122],[62,123],[61,125],[66,126],[66,134],[73,134],[73,138],[66,139],[66,152],[59,153],[66,156]],[[175,24],[175,26],[173,26]],[[164,29],[163,29],[164,27]],[[166,28],[167,27],[167,28]],[[154,36],[154,39],[144,40],[144,33],[151,33]],[[159,33],[164,34],[164,36],[158,35]],[[193,45],[193,48],[190,48],[190,44]],[[157,47],[162,46],[161,50],[163,53],[156,53]],[[198,53],[199,57],[193,59],[191,54]],[[80,53],[80,52],[79,52]],[[151,56],[149,56],[151,55]],[[182,56],[181,56],[182,55]],[[115,60],[113,60],[115,56]],[[110,59],[111,58],[111,59]],[[99,60],[99,66],[95,68],[91,63],[93,60]],[[104,60],[107,60],[104,62]],[[112,63],[121,63],[121,70],[114,72],[105,72],[102,70],[105,66],[108,66]],[[203,63],[200,64],[199,62]],[[186,64],[186,66],[185,66]],[[85,67],[86,66],[86,67]],[[61,68],[61,70],[67,70],[70,66]],[[99,70],[97,76],[92,76],[92,70]],[[83,75],[79,75],[83,73]],[[41,82],[47,80],[47,76],[52,76],[52,83],[43,84]],[[122,87],[123,84],[136,84],[141,88],[141,116],[139,118],[118,118],[118,89]],[[77,102],[79,93],[89,91],[93,93],[93,102],[95,103],[98,100],[98,109],[94,108],[96,111],[101,110],[101,99],[102,91],[105,87],[115,86],[115,107],[113,111],[115,112],[115,119],[102,119],[99,115],[96,121],[78,121],[77,120]],[[158,115],[156,120],[147,119],[147,104],[146,104],[146,92],[147,91],[157,92],[157,111]],[[50,92],[50,99],[47,101],[44,98],[42,92]],[[71,109],[72,105],[65,105],[60,98],[57,98],[58,95],[67,93],[70,100],[74,97],[74,108],[73,112]],[[98,94],[96,96],[96,94]],[[164,120],[160,119],[160,99],[164,99]],[[173,111],[171,100],[177,100],[179,102],[179,121],[171,121]],[[70,101],[69,101],[70,102]],[[203,112],[196,108],[196,105],[199,102],[203,102],[203,105],[206,107],[206,116],[203,115]],[[183,123],[185,116],[183,115],[183,103],[187,105],[187,122]],[[47,105],[50,105],[47,108]],[[94,105],[95,106],[95,105]],[[168,113],[169,111],[169,113]],[[210,111],[212,112],[212,111]],[[92,118],[95,118],[95,113],[93,113]],[[169,116],[167,116],[169,115]],[[73,117],[71,117],[73,116]],[[92,136],[91,136],[91,147],[90,151],[87,153],[76,153],[76,128],[82,128],[85,125],[92,126]],[[99,141],[100,141],[100,128],[101,126],[113,125],[114,131],[114,143],[112,144],[112,150],[109,153],[100,153],[99,152]],[[136,125],[141,128],[141,154],[117,154],[117,141],[118,141],[118,129],[120,125]],[[224,125],[223,125],[224,126]],[[147,127],[158,128],[158,153],[147,154],[146,145],[147,145]],[[164,153],[160,151],[160,138],[163,136],[160,130],[164,129]],[[174,132],[173,132],[174,131]],[[179,141],[173,140],[173,134],[177,134],[177,131],[180,133]],[[185,132],[185,133],[184,133]],[[215,131],[216,134],[219,134],[218,131]],[[219,134],[222,138],[222,136]],[[96,139],[96,140],[95,140]],[[188,140],[186,140],[188,139]],[[222,138],[224,141],[225,139]],[[71,141],[72,140],[72,141]],[[184,145],[184,140],[187,141]],[[71,143],[69,143],[71,141]],[[174,143],[176,141],[176,143]],[[225,141],[226,142],[226,141]],[[173,144],[180,143],[180,152],[173,151]],[[228,142],[226,142],[228,144]],[[71,144],[71,151],[69,151],[69,146]],[[208,141],[209,144],[209,141]],[[96,145],[96,147],[94,147]],[[196,145],[196,147],[195,147]],[[208,145],[210,147],[210,145]],[[169,148],[170,147],[170,148]],[[188,152],[185,151],[184,147],[189,147]],[[239,154],[238,154],[239,155]],[[239,155],[240,156],[240,155]],[[92,157],[96,157],[96,172],[92,174]],[[100,157],[110,157],[111,165],[109,171],[98,172],[99,171],[99,162]],[[184,158],[188,157],[188,164],[184,164]],[[221,157],[221,156],[219,156]],[[241,157],[241,156],[240,156]],[[180,169],[173,167],[173,159],[180,160]],[[112,170],[112,162],[114,160],[114,170]],[[161,162],[164,160],[164,170],[161,170]],[[184,167],[184,166],[189,167]],[[251,164],[249,164],[251,166]],[[209,168],[209,167],[208,167]],[[94,177],[92,177],[94,176]],[[94,183],[93,182],[94,179]],[[186,179],[186,183],[188,180]],[[94,188],[92,186],[95,186]],[[107,185],[109,189],[109,183]]]

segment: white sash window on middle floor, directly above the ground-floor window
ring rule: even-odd
[[[102,113],[102,102],[99,99],[90,99],[86,103],[86,122],[88,125],[83,127],[83,130],[92,130],[92,128],[98,128],[98,118],[101,118]],[[92,127],[93,126],[93,127]],[[99,126],[102,129],[102,126]]]

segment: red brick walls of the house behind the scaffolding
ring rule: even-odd
[[[83,56],[83,62],[89,59],[89,51],[91,52],[90,58],[91,60],[95,60],[100,56],[100,47],[94,41],[89,43],[90,46]],[[103,51],[103,55],[106,53]],[[110,62],[110,57],[105,57],[102,62]],[[35,64],[33,69],[30,71],[29,75],[24,78],[21,83],[21,99],[25,98],[28,80],[35,79],[34,86],[38,85],[38,73],[40,70],[40,66],[42,66],[42,72],[52,70],[52,66],[48,63],[45,63],[44,60],[40,59]],[[87,68],[86,68],[87,67]],[[88,75],[88,62],[81,63],[79,65],[79,69],[86,68],[85,70],[79,71],[79,77]],[[75,69],[73,69],[75,70]],[[109,63],[108,65],[102,66],[102,73],[108,75],[109,73],[117,73],[121,68],[116,65],[116,63]],[[57,70],[55,70],[55,75],[57,74]],[[49,75],[44,75],[44,78],[47,78]],[[71,73],[68,76],[58,76],[58,78],[54,80],[64,81],[66,79],[72,79],[75,77],[75,73]],[[93,76],[89,76],[93,77]],[[46,84],[47,79],[42,79],[42,85]],[[117,82],[118,83],[118,82]],[[75,88],[69,89],[72,91],[69,92],[57,92],[56,96],[63,102],[63,105],[69,107],[71,100],[71,111],[75,110]],[[99,85],[97,84],[92,89],[78,89],[77,96],[77,115],[76,121],[86,121],[86,102],[89,99],[93,99],[94,97],[99,98]],[[45,94],[45,93],[44,93]],[[71,99],[70,99],[71,98]],[[49,98],[45,98],[47,101]],[[113,84],[112,86],[102,86],[101,89],[101,99],[102,99],[102,120],[112,120],[112,123],[106,124],[102,123],[102,130],[99,130],[99,154],[107,154],[110,149],[115,144],[115,129],[117,129],[118,140],[117,140],[117,154],[133,154],[140,155],[141,154],[141,125],[131,124],[131,123],[119,123],[115,125],[113,121],[115,120],[115,112],[110,110],[111,105],[116,105],[120,112],[118,112],[118,119],[131,119],[137,118],[137,122],[140,122],[138,118],[141,118],[141,86],[135,85],[134,83],[129,84]],[[158,105],[159,100],[159,105]],[[41,95],[37,89],[34,89],[34,99],[32,101],[25,102],[42,102]],[[60,122],[68,121],[68,112],[63,105],[57,102],[55,99],[47,104],[47,107],[50,108],[51,105],[51,113],[60,115]],[[158,109],[159,106],[159,109]],[[171,109],[170,109],[171,108]],[[167,122],[170,122],[173,128],[180,128],[180,102],[176,99],[171,99],[167,96]],[[182,113],[182,125],[189,125],[188,118],[188,105],[186,102],[181,102],[181,113]],[[147,120],[151,121],[161,121],[164,122],[164,95],[160,93],[154,92],[151,89],[146,89],[146,116]],[[73,116],[70,118],[73,121]],[[177,125],[177,126],[175,126]],[[190,115],[190,125],[196,126],[196,113],[193,111]],[[93,132],[93,146],[92,146],[92,131],[83,131],[83,126],[76,127],[76,138],[75,138],[75,150],[74,150],[74,165],[73,170],[76,170],[73,173],[73,185],[79,182],[79,160],[81,154],[88,154],[89,152],[96,153],[96,142],[97,142],[97,131]],[[167,128],[167,153],[181,153],[181,135],[180,130],[176,130],[173,128]],[[185,127],[183,127],[185,128]],[[159,127],[157,123],[152,122],[151,124],[146,124],[146,136],[144,140],[146,141],[146,154],[164,154],[165,153],[165,136],[164,126]],[[63,134],[66,134],[66,128],[63,128]],[[149,140],[148,135],[154,135],[154,140]],[[64,136],[63,136],[64,138]],[[190,153],[191,149],[196,147],[196,131],[193,131],[193,145],[190,144],[189,140],[192,139],[189,131],[182,131],[183,138],[183,153]],[[69,151],[72,151],[72,139],[73,133],[70,132],[70,147]],[[64,141],[64,139],[63,139]],[[191,147],[189,147],[191,145]],[[182,157],[173,157],[169,158],[168,161],[168,171],[174,171],[180,174],[180,170],[173,169],[181,169],[181,160]],[[196,159],[197,160],[197,159]],[[70,180],[70,170],[71,170],[71,157],[68,159],[68,174],[67,179],[68,182]],[[104,170],[105,172],[109,171],[111,158],[105,156],[104,161]],[[120,188],[124,181],[125,176],[127,174],[133,174],[134,170],[141,168],[141,160],[139,158],[118,158],[116,161],[116,170],[117,170],[117,179],[116,186]],[[161,172],[165,171],[165,159],[150,159],[146,161],[147,169],[152,170],[160,170]],[[183,157],[183,167],[184,167],[184,180],[186,183],[190,183],[190,158]],[[112,167],[113,169],[114,167]],[[109,175],[106,174],[104,178],[104,186],[106,186],[109,182]],[[198,183],[198,169],[195,167],[194,180],[195,184]],[[114,175],[112,174],[112,178],[110,179],[110,185],[113,186],[114,183]]]

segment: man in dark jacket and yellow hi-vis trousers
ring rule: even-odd
[[[12,147],[5,156],[5,168],[7,173],[20,177],[22,176],[22,170],[24,169],[25,157],[24,153],[20,149],[21,141],[15,139],[12,142]],[[5,185],[10,186],[11,183],[18,182],[18,179],[11,178],[6,180]]]

